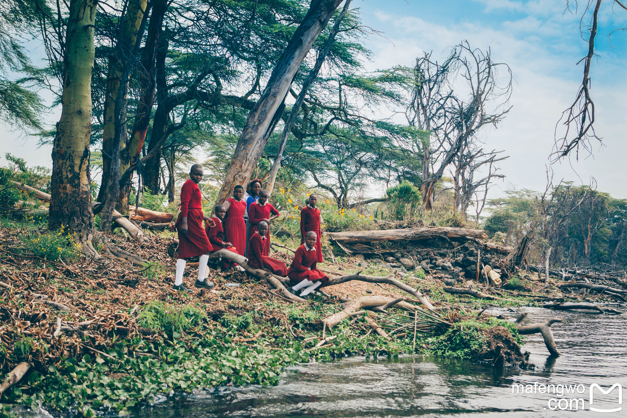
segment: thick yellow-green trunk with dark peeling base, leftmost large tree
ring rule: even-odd
[[[89,175],[92,133],[92,68],[96,0],[71,0],[63,56],[63,110],[52,151],[48,225],[76,233],[83,250],[94,231]],[[87,246],[87,249],[85,248]],[[93,248],[93,247],[92,247]],[[86,252],[95,252],[88,250]]]

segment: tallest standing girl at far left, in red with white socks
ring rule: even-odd
[[[183,272],[187,258],[198,257],[198,279],[195,287],[211,289],[212,282],[204,280],[204,272],[209,260],[211,243],[203,228],[203,219],[208,225],[214,223],[211,218],[204,216],[201,206],[202,195],[198,183],[203,180],[203,167],[194,164],[189,169],[189,179],[181,187],[181,213],[176,221],[176,230],[179,233],[179,259],[176,260],[176,274],[174,278],[174,290],[192,292],[183,284]]]

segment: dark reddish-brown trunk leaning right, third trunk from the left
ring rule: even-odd
[[[135,117],[133,134],[130,138],[128,146],[121,153],[120,173],[122,176],[124,176],[125,171],[129,169],[130,164],[140,158],[142,147],[144,147],[146,132],[148,132],[157,83],[156,63],[157,51],[159,51],[159,37],[161,36],[163,18],[166,14],[167,6],[167,0],[155,0],[155,4],[152,7],[152,13],[150,14],[148,35],[144,46],[144,60],[142,60],[143,68],[141,81],[144,92],[139,100],[139,104],[137,105],[137,116]],[[132,179],[132,176],[130,179]],[[119,210],[122,213],[127,213],[129,209],[130,183],[132,183],[132,180],[129,180],[124,185],[120,185],[120,204],[122,210]]]

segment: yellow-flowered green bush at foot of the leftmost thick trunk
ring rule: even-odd
[[[25,233],[19,235],[23,248],[42,259],[57,261],[74,261],[78,258],[81,244],[75,242],[70,233],[65,232],[61,225],[58,232],[48,232],[38,235],[37,233]]]

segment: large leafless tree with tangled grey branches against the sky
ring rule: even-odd
[[[504,84],[499,67],[507,70]],[[456,45],[442,64],[433,62],[431,53],[416,60],[414,91],[406,117],[411,126],[431,132],[422,150],[425,209],[433,207],[436,183],[460,158],[464,147],[470,147],[482,127],[496,126],[511,109],[503,110],[511,92],[508,65],[493,62],[489,49],[473,49],[468,41]]]

